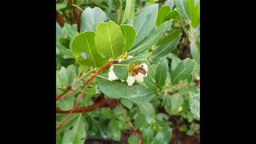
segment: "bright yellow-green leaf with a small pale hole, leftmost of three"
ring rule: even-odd
[[[94,32],[86,31],[78,34],[72,42],[70,42],[70,49],[74,58],[78,60],[78,63],[88,68],[90,68],[90,66],[103,66],[107,62],[106,58],[102,58],[100,54],[98,54]],[[83,54],[86,54],[86,58],[83,58]]]

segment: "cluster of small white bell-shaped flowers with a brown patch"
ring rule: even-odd
[[[132,56],[128,56],[128,58],[132,58]],[[122,62],[122,59],[121,58],[118,59],[118,62]],[[114,74],[113,69],[114,69],[114,66],[110,66],[110,72],[109,72],[109,78],[108,78],[110,81],[118,80],[118,77]],[[133,86],[135,81],[143,82],[143,78],[147,76],[147,71],[148,71],[148,67],[146,63],[131,66],[129,76],[126,79],[128,86]]]

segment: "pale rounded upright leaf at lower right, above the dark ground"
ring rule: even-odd
[[[164,107],[169,114],[178,114],[179,107],[182,106],[183,102],[182,95],[175,93],[166,97]]]

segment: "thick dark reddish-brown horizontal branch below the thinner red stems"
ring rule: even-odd
[[[118,106],[119,104],[118,99],[109,99],[109,98],[103,98],[101,101],[94,103],[92,106],[86,106],[82,108],[78,108],[76,110],[72,110],[71,114],[73,113],[86,113],[90,112],[92,110],[97,110],[102,107],[110,107],[113,109],[115,106]],[[58,114],[69,114],[71,110],[60,110],[58,107],[56,108],[56,113]]]

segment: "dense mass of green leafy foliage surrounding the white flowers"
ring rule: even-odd
[[[70,115],[56,132],[58,144],[82,144],[87,138],[120,141],[127,130],[140,132],[130,134],[130,144],[167,144],[174,135],[173,116],[182,122],[180,131],[199,134],[199,0],[59,0],[56,9],[65,21],[63,26],[56,22],[56,93],[77,89],[56,102],[58,109],[72,110],[77,102],[78,107],[92,106],[102,95],[120,100],[114,108],[56,114],[57,126]],[[92,74],[82,75],[118,59],[122,62],[97,74],[82,93]],[[134,66],[142,63],[148,66],[143,82],[136,79],[128,86]],[[109,78],[110,69],[115,80]]]

